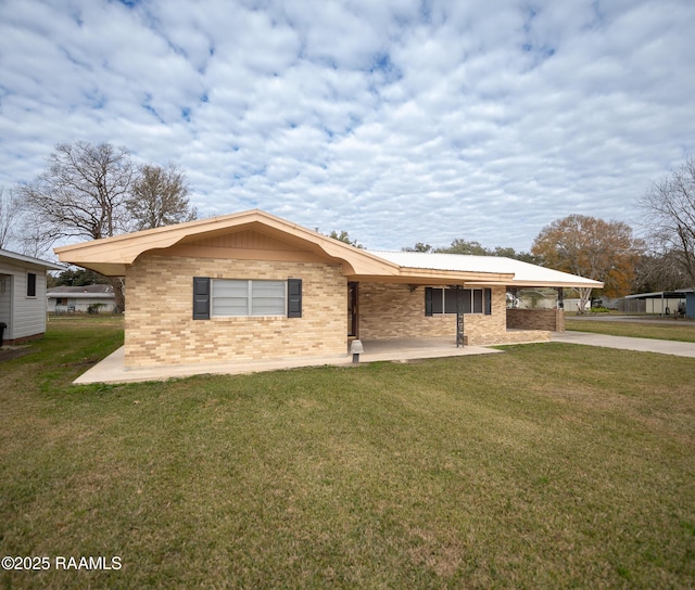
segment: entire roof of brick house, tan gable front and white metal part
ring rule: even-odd
[[[64,262],[78,265],[108,277],[123,277],[138,256],[177,254],[205,256],[211,252],[240,253],[241,246],[225,242],[230,234],[261,234],[274,244],[308,253],[316,259],[338,262],[354,281],[410,284],[485,284],[518,286],[593,286],[603,283],[544,269],[528,262],[493,256],[462,256],[412,252],[369,252],[323,235],[265,211],[253,209],[200,219],[176,226],[94,240],[55,248]],[[222,241],[223,243],[215,243]],[[218,249],[211,251],[215,243]],[[219,246],[225,247],[219,247]],[[235,249],[237,248],[237,249]],[[245,246],[247,251],[253,246]],[[277,246],[275,252],[277,253]],[[266,251],[271,256],[273,251]]]

